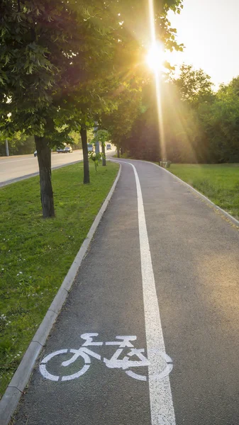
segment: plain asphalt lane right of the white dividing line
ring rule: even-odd
[[[137,164],[176,424],[239,424],[239,233],[174,177]]]

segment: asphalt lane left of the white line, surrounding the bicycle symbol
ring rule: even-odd
[[[137,336],[135,348],[145,348],[137,198],[133,169],[128,166],[52,329],[45,354],[79,348],[84,343],[80,335],[86,332],[99,333],[96,341]],[[118,347],[88,348],[110,358]],[[57,360],[50,363],[52,373],[58,370],[66,375],[82,368],[81,359],[65,369],[58,368]],[[147,375],[146,368],[142,373]],[[15,423],[26,424],[26,420],[28,425],[138,425],[142,420],[150,425],[148,382],[130,378],[123,370],[106,368],[95,358],[91,358],[87,373],[67,382],[43,378],[37,365]]]

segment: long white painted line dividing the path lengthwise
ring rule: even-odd
[[[130,164],[130,163],[127,163]],[[138,197],[138,227],[140,234],[140,256],[143,281],[143,302],[145,310],[145,331],[148,351],[150,410],[152,425],[176,425],[169,376],[162,380],[157,375],[165,368],[165,360],[160,353],[165,353],[165,342],[162,335],[160,310],[157,302],[155,276],[152,270],[152,259],[148,232],[143,208],[143,197],[138,173],[133,164]]]

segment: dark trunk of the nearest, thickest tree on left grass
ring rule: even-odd
[[[35,136],[35,147],[38,152],[40,173],[40,200],[43,207],[43,218],[55,217],[52,191],[51,149],[45,137]]]

